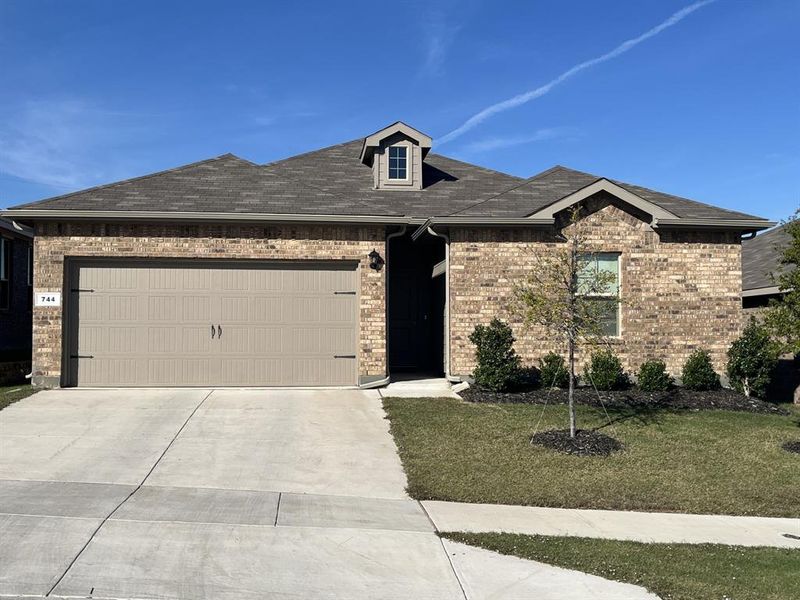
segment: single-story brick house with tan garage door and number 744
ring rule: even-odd
[[[226,154],[15,207],[36,230],[34,382],[364,385],[466,378],[533,254],[589,209],[623,299],[628,368],[719,368],[740,329],[741,238],[772,224],[565,167],[529,179],[430,152],[395,123],[267,165]],[[59,304],[55,293],[63,295]],[[515,324],[534,362],[555,347]]]

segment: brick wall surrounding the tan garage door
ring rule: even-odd
[[[66,257],[357,260],[360,375],[383,376],[385,271],[369,268],[367,255],[373,248],[385,255],[382,227],[40,223],[35,238],[35,291],[61,290],[66,295]],[[35,383],[58,385],[61,333],[62,308],[34,308]]]

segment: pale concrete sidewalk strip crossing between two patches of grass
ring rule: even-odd
[[[800,519],[422,502],[439,531],[798,548]]]

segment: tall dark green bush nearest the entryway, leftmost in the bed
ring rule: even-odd
[[[478,325],[469,340],[475,344],[477,367],[472,376],[482,388],[495,392],[511,389],[519,380],[519,356],[514,351],[514,333],[500,319]]]

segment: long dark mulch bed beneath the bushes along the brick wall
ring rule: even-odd
[[[472,386],[460,395],[468,402],[508,404],[566,404],[567,390],[533,389],[518,392],[492,392]],[[602,399],[602,401],[601,401]],[[761,414],[788,415],[783,408],[729,389],[695,392],[674,388],[668,392],[642,392],[637,389],[598,392],[593,388],[575,390],[575,402],[586,406],[606,408],[664,408],[675,410],[733,410]]]

